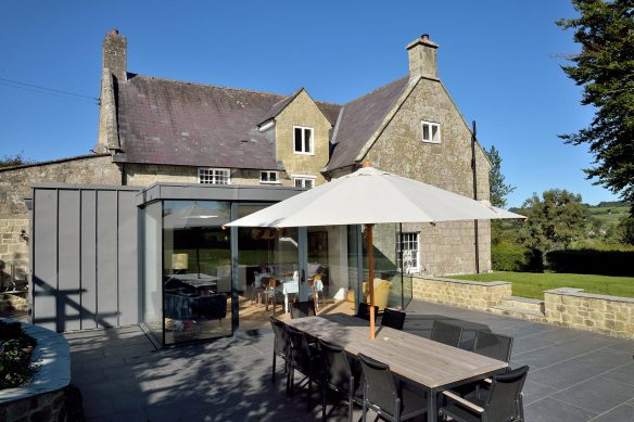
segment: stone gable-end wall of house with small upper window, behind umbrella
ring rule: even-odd
[[[421,120],[441,124],[441,143],[422,142]],[[473,197],[471,131],[443,85],[421,79],[394,114],[367,159],[392,171],[439,188]],[[476,148],[478,199],[489,200],[491,165]],[[404,225],[404,231],[420,232],[421,273],[441,276],[476,271],[473,221]],[[479,221],[480,271],[491,270],[491,223]]]

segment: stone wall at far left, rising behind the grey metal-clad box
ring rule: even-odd
[[[121,184],[110,155],[87,155],[0,169],[0,266],[8,278],[11,265],[18,280],[28,273],[29,216],[25,197],[33,183]],[[22,231],[25,231],[24,233]]]

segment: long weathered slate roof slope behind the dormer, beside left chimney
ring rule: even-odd
[[[118,85],[122,146],[116,162],[277,169],[272,146],[257,125],[292,95],[190,84],[129,74]],[[338,104],[316,102],[335,124]]]

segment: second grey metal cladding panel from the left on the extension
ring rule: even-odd
[[[58,196],[58,332],[81,328],[79,195],[79,191],[60,190]]]

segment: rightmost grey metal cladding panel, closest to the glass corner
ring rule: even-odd
[[[137,192],[118,192],[118,312],[121,325],[139,322]]]

